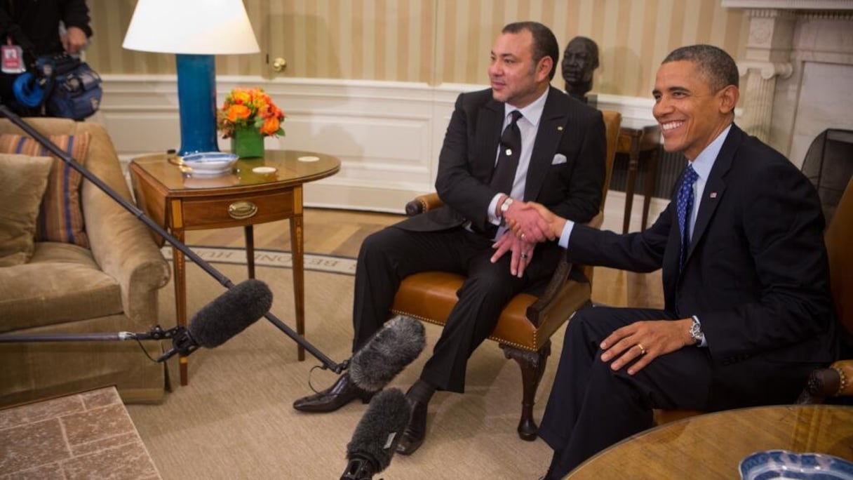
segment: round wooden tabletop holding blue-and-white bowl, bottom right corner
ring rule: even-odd
[[[729,480],[740,477],[740,460],[775,449],[853,460],[853,407],[752,407],[677,420],[606,448],[566,480]]]

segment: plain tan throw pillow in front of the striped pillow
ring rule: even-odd
[[[52,164],[46,156],[0,154],[0,266],[30,260]]]

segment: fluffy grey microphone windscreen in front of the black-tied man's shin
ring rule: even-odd
[[[426,344],[424,325],[411,317],[397,315],[352,355],[350,378],[368,392],[384,389],[397,373],[418,358]]]

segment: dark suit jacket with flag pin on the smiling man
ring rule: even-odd
[[[576,225],[569,260],[663,268],[665,308],[699,317],[716,364],[835,360],[824,219],[809,180],[732,125],[705,184],[681,275],[675,196],[647,231],[617,235]]]

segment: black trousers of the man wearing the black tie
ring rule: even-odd
[[[509,272],[509,255],[490,262],[492,243],[461,227],[406,231],[390,226],[367,237],[356,267],[353,351],[389,319],[403,278],[432,270],[465,275],[456,306],[421,373],[438,389],[462,393],[468,357],[494,330],[503,307],[528,285],[548,278],[559,255],[559,249],[537,246],[524,277],[517,278]]]

